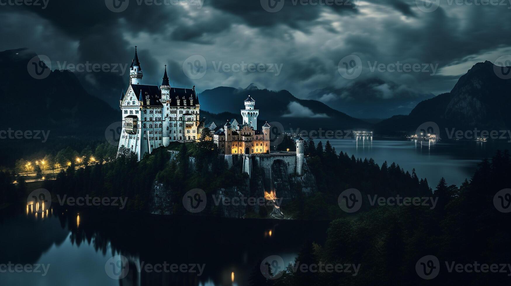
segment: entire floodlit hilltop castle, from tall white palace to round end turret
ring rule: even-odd
[[[270,175],[271,166],[276,160],[284,161],[288,174],[303,174],[305,140],[301,137],[295,140],[296,152],[270,151],[271,126],[265,123],[258,130],[259,110],[255,109],[255,100],[250,96],[244,101],[245,109],[241,110],[242,124],[231,119],[217,127],[214,122],[205,124],[200,121],[200,104],[195,86],[191,89],[170,86],[167,66],[159,87],[141,84],[142,77],[142,66],[135,46],[130,83],[120,100],[122,131],[119,148],[128,148],[139,161],[145,153],[151,154],[154,148],[167,147],[171,141],[198,141],[202,130],[208,128],[220,156],[225,158],[229,166],[233,165],[233,160],[243,160],[242,171],[249,176],[253,165],[262,167]]]

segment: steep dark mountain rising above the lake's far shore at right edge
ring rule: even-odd
[[[461,76],[451,92],[422,101],[408,115],[392,116],[376,124],[375,131],[380,134],[414,132],[425,122],[436,123],[441,136],[446,128],[509,130],[511,79],[497,76],[500,69],[489,61],[477,63]]]

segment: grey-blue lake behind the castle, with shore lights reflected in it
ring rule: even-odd
[[[315,140],[323,142],[327,140]],[[378,165],[387,161],[399,164],[410,172],[415,168],[419,178],[427,178],[430,187],[434,188],[440,178],[444,177],[448,184],[460,185],[466,178],[470,180],[477,164],[483,158],[491,158],[495,151],[511,149],[506,142],[476,141],[398,141],[362,139],[332,139],[330,144],[337,153],[347,153],[350,157],[373,158]]]

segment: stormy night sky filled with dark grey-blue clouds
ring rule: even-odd
[[[511,54],[511,0],[483,0],[486,5],[442,0],[429,9],[421,0],[352,0],[343,5],[332,0],[331,6],[321,5],[326,0],[311,0],[315,6],[270,0],[274,12],[266,11],[272,10],[268,0],[127,0],[117,2],[121,12],[109,10],[117,0],[45,1],[18,6],[0,0],[0,51],[27,47],[48,56],[55,69],[57,61],[60,66],[126,64],[137,45],[146,84],[160,83],[167,64],[172,85],[196,85],[198,91],[254,83],[260,89],[287,89],[297,98],[319,100],[343,112],[353,103],[392,106],[377,116],[355,114],[365,118],[407,114],[417,102],[450,91],[476,62]],[[187,59],[192,65],[202,59],[196,55],[203,57],[207,70],[194,79],[183,73],[183,66]],[[361,63],[354,79],[341,76],[338,68],[350,55]],[[398,61],[419,64],[421,71],[371,71],[375,64]],[[230,68],[242,63],[273,68],[216,70],[225,63]],[[277,73],[275,66],[282,70]],[[119,73],[79,76],[115,98],[128,82]]]

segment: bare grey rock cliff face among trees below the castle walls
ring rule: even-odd
[[[245,218],[247,214],[255,217],[271,217],[285,219],[285,206],[281,209],[278,204],[292,201],[300,193],[309,196],[317,191],[316,179],[304,163],[304,175],[288,175],[285,163],[272,166],[272,186],[265,185],[264,172],[256,174],[252,179],[246,179],[241,186],[222,187],[213,194],[207,195],[206,210],[200,214],[210,214],[224,218]],[[275,190],[277,200],[263,200],[265,192]],[[175,204],[182,204],[182,198],[173,198],[172,189],[157,181],[153,184],[153,202],[151,213],[172,214]],[[256,203],[248,202],[248,198]],[[282,200],[280,200],[282,199]]]

